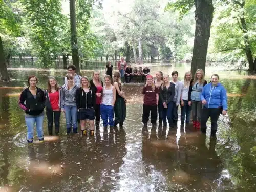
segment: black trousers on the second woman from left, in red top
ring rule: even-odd
[[[48,132],[49,135],[52,135],[53,129],[53,117],[54,117],[54,124],[55,124],[55,133],[59,133],[59,119],[60,119],[60,112],[61,111],[46,111],[46,116],[48,120]]]

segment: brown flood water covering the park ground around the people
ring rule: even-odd
[[[150,69],[168,74],[177,70],[183,79],[190,66]],[[217,140],[209,138],[209,129],[204,137],[190,127],[184,131],[180,122],[177,130],[167,127],[143,135],[142,87],[125,86],[128,102],[123,130],[103,133],[101,124],[95,137],[67,136],[62,114],[59,137],[47,137],[45,117],[46,142],[28,146],[24,112],[18,107],[28,75],[35,74],[38,87],[45,89],[49,76],[56,76],[62,84],[66,72],[9,72],[12,82],[1,83],[0,88],[1,192],[256,190],[255,76],[206,69],[206,80],[218,73],[229,96],[228,115],[219,118]],[[92,71],[82,71],[82,75],[91,77]]]

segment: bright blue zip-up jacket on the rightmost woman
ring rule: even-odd
[[[200,99],[207,101],[204,105],[206,108],[222,107],[223,110],[227,110],[227,91],[221,83],[217,86],[212,86],[211,82],[206,84],[200,94]]]

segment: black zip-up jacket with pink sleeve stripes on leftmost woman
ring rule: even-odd
[[[29,88],[26,88],[20,94],[18,104],[26,114],[36,116],[44,111],[45,101],[45,93],[40,88],[36,87],[36,99]]]

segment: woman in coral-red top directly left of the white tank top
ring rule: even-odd
[[[99,129],[100,123],[100,103],[102,99],[102,90],[103,90],[103,82],[100,80],[100,72],[94,71],[93,72],[93,79],[90,81],[91,88],[95,90],[96,95],[96,105],[94,108],[95,112],[95,126],[96,130]]]

